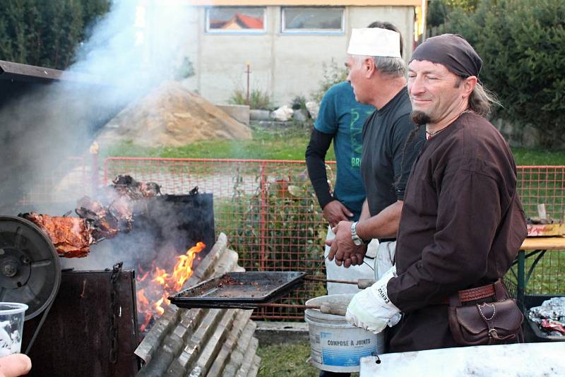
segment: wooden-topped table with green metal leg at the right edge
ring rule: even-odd
[[[518,305],[520,306],[522,311],[524,311],[525,309],[525,286],[528,284],[528,280],[530,280],[535,266],[548,250],[565,250],[565,237],[526,237],[526,239],[523,241],[522,246],[520,246],[520,251],[518,251],[518,258],[516,258],[516,261],[513,263],[513,265],[518,265],[518,287],[516,293],[518,298]],[[528,270],[528,274],[526,274],[525,258],[530,258],[531,256],[536,257],[530,267],[530,270]]]

